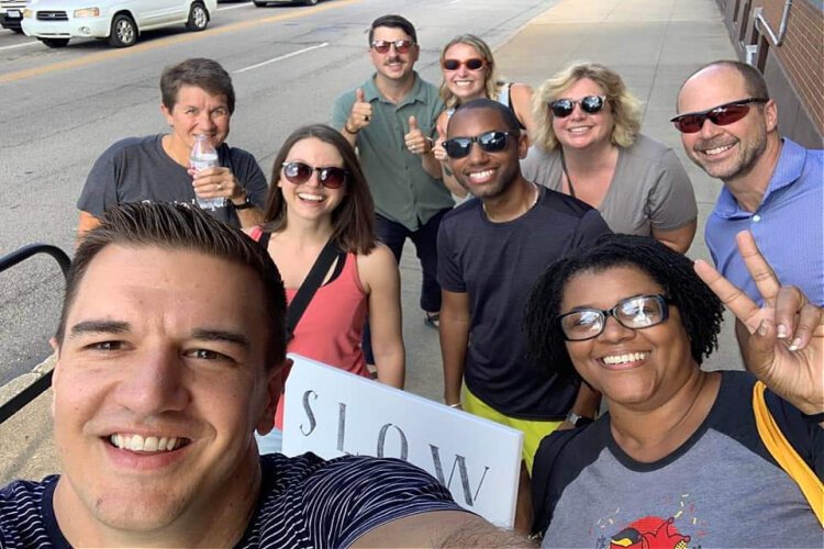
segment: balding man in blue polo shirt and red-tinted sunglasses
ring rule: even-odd
[[[749,65],[715,61],[678,94],[687,155],[724,182],[706,221],[706,245],[719,270],[753,300],[755,281],[736,253],[749,229],[783,285],[824,305],[824,152],[778,135],[778,109]]]

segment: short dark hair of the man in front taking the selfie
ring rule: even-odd
[[[198,208],[165,202],[134,202],[108,210],[100,224],[86,233],[66,279],[60,322],[55,339],[63,344],[69,311],[93,259],[109,245],[130,248],[197,251],[252,269],[264,288],[260,300],[268,318],[266,367],[286,358],[286,292],[275,262],[259,244]],[[208,298],[208,296],[207,296]]]

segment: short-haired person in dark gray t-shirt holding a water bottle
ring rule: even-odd
[[[171,131],[122,139],[98,158],[77,202],[78,234],[109,208],[143,201],[198,204],[234,226],[259,224],[266,177],[249,153],[225,143],[235,108],[229,72],[212,59],[187,59],[164,70],[160,91]]]

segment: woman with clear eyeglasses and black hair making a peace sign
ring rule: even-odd
[[[751,234],[738,249],[764,309],[705,261],[644,236],[603,237],[534,287],[532,356],[609,407],[541,444],[543,547],[821,547],[824,315],[780,285]],[[722,300],[749,371],[701,369]]]

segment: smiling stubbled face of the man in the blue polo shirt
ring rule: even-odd
[[[678,96],[678,114],[701,112],[749,98],[744,78],[730,67],[712,66],[690,78]],[[746,177],[767,147],[767,134],[778,123],[772,101],[750,104],[742,120],[715,125],[706,120],[697,133],[681,133],[684,152],[714,178]]]

